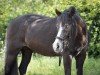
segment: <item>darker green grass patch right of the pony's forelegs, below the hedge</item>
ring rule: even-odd
[[[86,62],[84,65],[84,75],[100,75],[100,58],[86,59]]]

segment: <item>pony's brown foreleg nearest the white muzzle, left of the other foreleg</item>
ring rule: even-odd
[[[63,54],[63,62],[64,62],[65,75],[71,75],[72,56],[67,52],[65,52]]]

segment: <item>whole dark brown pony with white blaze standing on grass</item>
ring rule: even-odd
[[[87,49],[86,24],[74,7],[63,13],[56,10],[56,13],[58,16],[55,18],[28,14],[17,17],[10,23],[6,34],[4,75],[18,75],[17,55],[20,51],[20,75],[26,74],[32,53],[62,55],[65,75],[71,75],[71,60],[75,57],[77,75],[83,75]]]

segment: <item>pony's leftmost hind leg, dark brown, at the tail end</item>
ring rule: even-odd
[[[18,75],[17,69],[17,55],[19,50],[17,48],[7,48],[5,58],[5,72],[4,75]]]

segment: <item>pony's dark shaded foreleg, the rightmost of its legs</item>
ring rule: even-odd
[[[85,58],[86,58],[86,51],[82,51],[79,55],[75,57],[77,75],[83,75],[83,64],[84,64]]]

